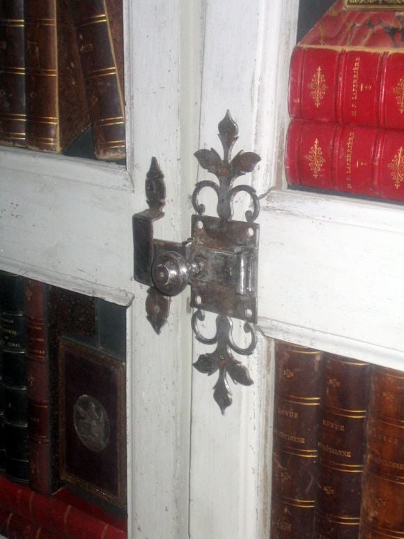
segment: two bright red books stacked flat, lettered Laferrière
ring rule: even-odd
[[[290,185],[404,202],[403,17],[337,0],[296,45]]]

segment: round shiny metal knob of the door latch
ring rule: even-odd
[[[188,284],[190,273],[189,264],[175,251],[162,252],[153,262],[153,282],[166,296],[180,294]]]

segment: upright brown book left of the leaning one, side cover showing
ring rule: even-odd
[[[26,0],[26,146],[60,153],[88,125],[70,0]]]

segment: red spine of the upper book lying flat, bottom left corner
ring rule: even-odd
[[[54,496],[0,478],[0,505],[26,521],[42,526],[59,538],[127,539],[125,531],[108,524]]]

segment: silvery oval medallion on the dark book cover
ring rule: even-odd
[[[109,443],[109,420],[102,404],[91,397],[81,395],[73,407],[75,430],[87,449],[100,453]]]

